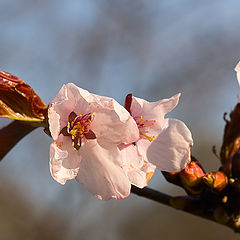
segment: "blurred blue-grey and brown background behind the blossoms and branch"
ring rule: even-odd
[[[114,97],[155,101],[182,93],[169,115],[193,134],[193,155],[219,167],[223,113],[239,91],[238,0],[1,0],[0,68],[49,103],[73,82]],[[1,119],[0,126],[8,123]],[[0,163],[0,239],[237,239],[221,225],[131,194],[100,201],[75,181],[61,186],[49,172],[51,139],[25,137]],[[184,194],[160,172],[151,188]]]

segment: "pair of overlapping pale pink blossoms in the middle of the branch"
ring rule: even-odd
[[[48,108],[50,171],[61,184],[76,179],[99,199],[125,198],[147,186],[155,169],[176,172],[190,161],[185,124],[165,115],[180,94],[147,102],[129,94],[125,106],[64,85]]]

